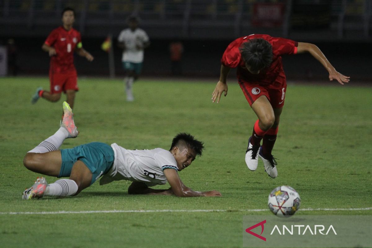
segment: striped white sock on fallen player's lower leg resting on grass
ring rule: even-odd
[[[77,192],[77,184],[71,179],[59,179],[48,184],[44,196],[73,196]]]

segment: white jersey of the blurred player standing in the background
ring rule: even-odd
[[[124,42],[125,50],[123,51],[122,61],[128,61],[132,63],[141,63],[143,61],[143,49],[138,50],[136,45],[143,45],[148,42],[147,33],[137,28],[132,31],[130,28],[124,29],[120,32],[118,37],[119,42]]]

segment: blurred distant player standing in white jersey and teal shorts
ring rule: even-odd
[[[128,18],[129,28],[120,32],[118,46],[123,49],[122,63],[125,70],[126,100],[134,101],[132,86],[142,70],[144,49],[150,45],[147,33],[138,28],[138,17]]]

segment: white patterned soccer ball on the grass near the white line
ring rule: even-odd
[[[300,202],[300,196],[294,188],[280,186],[271,191],[267,204],[274,215],[294,215]]]

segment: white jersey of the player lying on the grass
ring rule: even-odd
[[[177,162],[173,155],[162,148],[152,150],[127,150],[111,144],[115,161],[108,173],[99,181],[100,185],[116,180],[129,180],[145,183],[147,186],[166,184],[167,178],[163,170],[177,170]],[[178,171],[178,170],[177,170]]]

